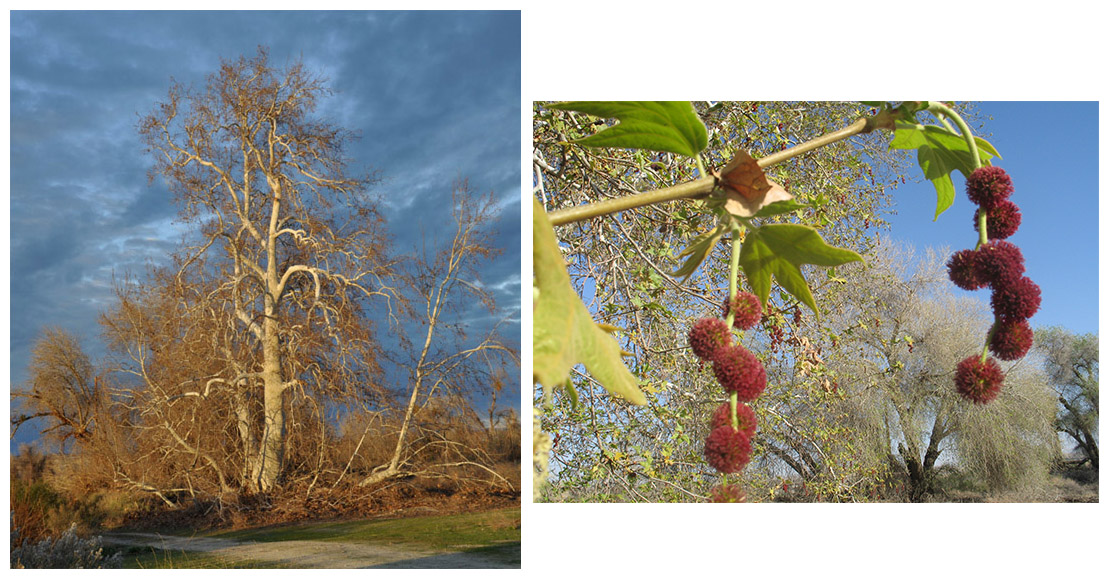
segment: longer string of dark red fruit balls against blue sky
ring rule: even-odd
[[[1042,291],[1026,277],[1023,252],[1005,241],[1019,228],[1021,215],[1008,197],[1015,192],[1011,178],[999,167],[981,167],[968,178],[969,199],[977,204],[973,225],[980,234],[974,250],[954,253],[946,264],[949,279],[959,288],[991,288],[995,321],[988,330],[984,351],[956,366],[956,390],[973,402],[987,403],[999,394],[1004,371],[988,358],[1019,359],[1030,349],[1034,333],[1027,323],[1038,311]],[[989,241],[992,240],[992,241]]]

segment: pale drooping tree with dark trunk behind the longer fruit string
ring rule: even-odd
[[[1004,391],[988,404],[958,394],[956,363],[980,352],[989,320],[982,302],[952,293],[946,259],[884,244],[849,276],[833,324],[847,326],[846,339],[822,353],[844,384],[846,413],[876,432],[878,445],[864,450],[887,460],[915,502],[934,491],[946,451],[993,489],[1045,477],[1056,451],[1053,395],[1037,366],[1002,364]]]

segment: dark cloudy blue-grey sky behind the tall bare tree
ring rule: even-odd
[[[114,274],[142,274],[179,243],[166,186],[148,184],[139,115],[172,77],[200,88],[259,45],[274,66],[301,58],[327,77],[319,116],[361,132],[347,155],[380,171],[399,253],[421,231],[436,241],[446,216],[433,208],[460,177],[493,192],[505,251],[482,274],[519,343],[519,12],[11,12],[10,25],[11,384],[46,325],[99,356]],[[463,316],[478,329],[495,321]]]

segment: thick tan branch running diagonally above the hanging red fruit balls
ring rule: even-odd
[[[879,116],[876,116],[875,119],[869,120],[867,118],[860,118],[858,121],[838,131],[822,134],[813,140],[775,152],[774,155],[767,155],[766,157],[758,159],[758,167],[765,169],[766,167],[792,159],[799,155],[804,155],[814,149],[820,149],[827,144],[832,144],[837,141],[841,141],[857,134],[871,132],[876,129],[890,129],[892,127],[893,123],[890,122],[890,119],[880,119]],[[704,175],[703,164],[700,162],[699,156],[697,157],[697,162],[700,167],[700,175]],[[607,199],[558,209],[549,213],[549,223],[556,227],[594,217],[601,217],[604,215],[626,209],[644,207],[646,205],[655,205],[676,199],[699,199],[711,195],[715,190],[716,177],[706,176],[664,189],[654,189],[652,192],[640,193],[637,195],[629,195],[616,199]]]

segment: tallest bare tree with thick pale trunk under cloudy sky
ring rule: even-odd
[[[225,363],[170,395],[228,393],[254,491],[280,477],[292,396],[358,387],[334,379],[373,364],[370,333],[355,326],[365,301],[393,297],[374,178],[348,175],[353,136],[312,116],[328,93],[298,62],[272,68],[261,48],[223,63],[203,91],[172,84],[139,124],[151,177],[197,226],[167,286],[223,333],[212,345]]]

